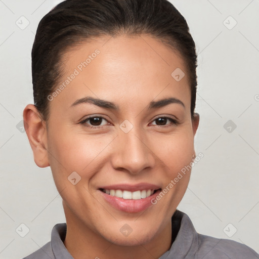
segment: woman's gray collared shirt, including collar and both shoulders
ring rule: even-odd
[[[255,259],[259,254],[247,245],[196,232],[188,215],[176,210],[172,215],[172,245],[159,259]],[[63,241],[66,223],[56,224],[51,241],[23,259],[73,259]]]

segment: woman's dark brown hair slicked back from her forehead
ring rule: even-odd
[[[34,105],[49,118],[47,99],[62,76],[62,55],[85,40],[102,35],[149,34],[176,50],[184,59],[194,116],[197,88],[195,42],[185,18],[167,0],[66,0],[39,22],[33,42]]]

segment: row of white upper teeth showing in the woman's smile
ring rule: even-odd
[[[142,191],[130,192],[130,191],[122,191],[122,190],[103,189],[103,192],[118,198],[140,200],[140,199],[145,199],[149,197],[155,192],[155,190],[142,190]]]

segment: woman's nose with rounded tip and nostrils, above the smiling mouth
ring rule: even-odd
[[[149,147],[148,138],[134,128],[124,133],[120,131],[113,146],[111,159],[113,168],[127,171],[132,175],[155,165],[155,155]]]

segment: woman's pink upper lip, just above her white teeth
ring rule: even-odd
[[[122,190],[122,191],[142,191],[142,190],[158,190],[161,187],[154,184],[149,183],[139,183],[139,184],[114,184],[114,185],[106,185],[102,186],[99,189],[106,189],[106,190]]]

